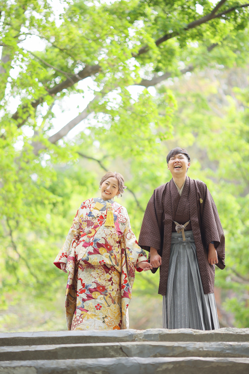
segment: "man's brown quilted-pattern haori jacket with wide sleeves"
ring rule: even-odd
[[[207,247],[214,241],[218,254],[216,265],[224,269],[225,237],[215,202],[205,183],[187,177],[180,196],[171,179],[154,190],[147,204],[138,245],[146,251],[156,248],[162,257],[158,289],[161,295],[165,295],[167,289],[171,233],[176,231],[173,220],[180,224],[190,220],[186,231],[193,230],[203,291],[213,293],[215,265],[208,263]]]

